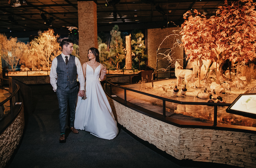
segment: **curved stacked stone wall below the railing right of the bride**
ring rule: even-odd
[[[256,134],[180,128],[132,110],[109,98],[117,122],[178,160],[256,168]]]

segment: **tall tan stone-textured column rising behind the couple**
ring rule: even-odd
[[[97,5],[93,1],[78,1],[79,56],[81,64],[88,61],[91,47],[98,48]]]

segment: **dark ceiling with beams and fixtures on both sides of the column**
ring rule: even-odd
[[[17,1],[17,2],[16,2]],[[83,0],[81,0],[83,1]],[[86,1],[86,0],[84,0]],[[12,7],[11,5],[19,5]],[[98,31],[171,27],[180,25],[190,9],[214,15],[224,0],[94,0],[97,4]],[[10,4],[9,4],[10,3]],[[108,3],[108,7],[106,7]],[[66,30],[78,27],[77,0],[0,0],[0,33],[28,34],[38,30]]]

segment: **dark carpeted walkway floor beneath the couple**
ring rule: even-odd
[[[120,130],[113,140],[80,131],[59,143],[59,108],[51,85],[33,85],[34,112],[8,168],[185,168]]]

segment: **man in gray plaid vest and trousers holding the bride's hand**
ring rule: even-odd
[[[57,94],[59,102],[59,125],[61,130],[59,142],[66,143],[67,105],[69,104],[70,129],[74,134],[78,134],[78,131],[74,128],[76,100],[77,94],[80,97],[85,95],[85,78],[79,59],[71,55],[74,50],[73,41],[69,39],[62,40],[61,48],[62,53],[52,60],[50,83]],[[78,81],[80,82],[79,92],[76,75],[78,75]]]

